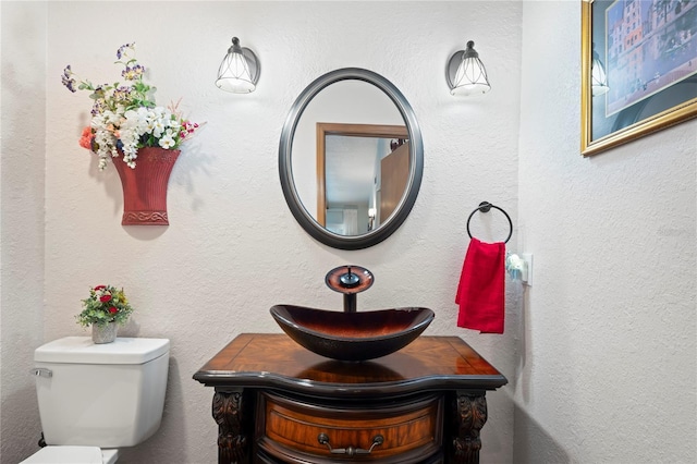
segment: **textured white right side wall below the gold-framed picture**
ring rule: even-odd
[[[524,2],[516,463],[694,463],[697,121],[578,155],[580,7]]]

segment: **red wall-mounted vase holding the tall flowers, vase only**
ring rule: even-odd
[[[160,147],[140,148],[135,169],[121,158],[113,159],[123,187],[122,225],[169,225],[167,185],[179,154]]]

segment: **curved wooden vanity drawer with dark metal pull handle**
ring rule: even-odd
[[[315,403],[265,391],[257,407],[256,447],[284,462],[406,464],[441,451],[443,401],[437,394],[400,402]]]

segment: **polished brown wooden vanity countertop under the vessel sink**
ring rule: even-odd
[[[348,363],[317,355],[285,334],[243,333],[194,379],[207,387],[292,388],[313,395],[496,390],[506,378],[458,337],[419,337],[388,356]]]

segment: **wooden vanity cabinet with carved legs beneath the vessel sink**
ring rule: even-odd
[[[213,387],[219,463],[476,463],[487,390],[506,383],[456,337],[363,363],[242,334],[194,379]]]

